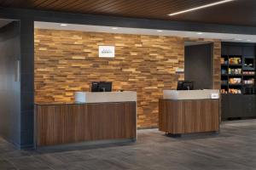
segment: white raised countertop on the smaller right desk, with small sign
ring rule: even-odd
[[[163,99],[218,99],[219,90],[164,90]]]

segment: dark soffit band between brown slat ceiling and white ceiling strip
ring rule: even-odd
[[[34,20],[92,26],[118,26],[173,31],[205,31],[218,33],[256,35],[256,27],[203,24],[195,22],[148,20],[92,14],[71,14],[18,8],[0,8],[0,18]]]

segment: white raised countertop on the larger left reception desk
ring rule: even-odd
[[[79,103],[137,101],[137,92],[76,92],[75,101]]]

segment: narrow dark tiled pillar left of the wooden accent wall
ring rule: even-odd
[[[20,148],[33,147],[34,22],[20,20]]]

